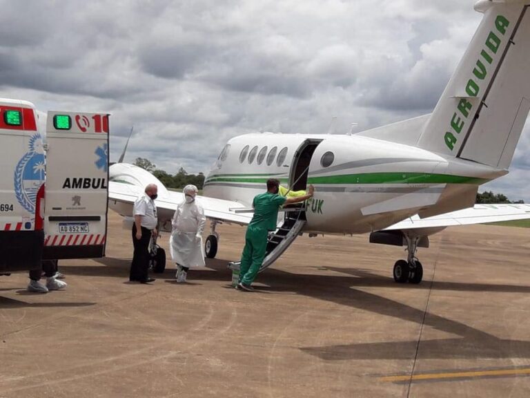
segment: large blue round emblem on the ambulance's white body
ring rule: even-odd
[[[14,169],[14,193],[20,205],[35,214],[37,191],[46,178],[44,147],[39,133],[32,135],[28,152]]]

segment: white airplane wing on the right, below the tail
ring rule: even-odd
[[[420,218],[415,215],[397,222],[384,231],[451,227],[453,225],[484,224],[487,222],[530,219],[530,205],[475,205],[469,209],[451,211],[438,216]]]

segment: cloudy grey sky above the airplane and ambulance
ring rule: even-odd
[[[430,113],[480,22],[473,0],[0,0],[2,97],[112,114],[111,161],[207,172],[255,131],[356,131]],[[511,174],[530,202],[529,126]]]

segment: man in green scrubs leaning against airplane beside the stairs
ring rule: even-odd
[[[239,283],[236,288],[239,290],[253,291],[251,284],[256,278],[259,267],[262,266],[267,248],[268,231],[275,231],[278,218],[278,209],[283,205],[304,202],[313,197],[313,185],[309,185],[308,193],[304,196],[285,198],[278,195],[279,181],[267,181],[267,191],[260,193],[254,198],[254,217],[248,224],[245,236],[245,248],[239,267]]]

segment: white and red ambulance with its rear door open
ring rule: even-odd
[[[0,99],[0,274],[105,255],[108,116]]]

